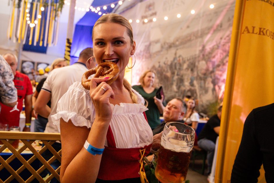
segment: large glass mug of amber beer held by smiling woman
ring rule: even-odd
[[[160,182],[185,182],[194,139],[195,130],[190,126],[166,123],[155,169]]]

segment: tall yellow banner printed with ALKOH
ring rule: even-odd
[[[215,182],[230,182],[247,115],[274,102],[273,17],[274,1],[236,1]]]

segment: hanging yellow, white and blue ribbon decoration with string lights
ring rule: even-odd
[[[34,46],[46,47],[57,44],[59,16],[64,0],[9,1],[11,10],[8,39],[24,44],[28,41],[29,45]]]

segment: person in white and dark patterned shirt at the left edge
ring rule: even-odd
[[[17,103],[17,89],[13,79],[14,75],[8,62],[0,55],[0,102],[8,107],[14,107]]]

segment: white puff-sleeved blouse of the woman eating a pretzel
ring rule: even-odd
[[[134,89],[138,104],[120,103],[113,105],[113,115],[110,127],[115,139],[116,148],[137,148],[149,145],[153,141],[150,126],[143,112],[148,110],[143,104],[145,100]],[[57,114],[51,116],[53,124],[60,131],[60,118],[75,126],[91,128],[95,119],[95,109],[89,95],[89,90],[83,88],[80,82],[73,83],[61,97],[57,105]],[[105,146],[108,146],[107,140]]]

